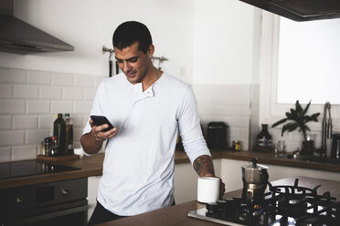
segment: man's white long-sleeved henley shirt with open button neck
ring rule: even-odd
[[[178,129],[192,163],[210,155],[191,87],[166,73],[145,91],[122,73],[103,79],[90,114],[106,116],[118,128],[105,148],[98,191],[98,201],[115,214],[131,216],[173,203]],[[88,132],[89,123],[83,130]]]

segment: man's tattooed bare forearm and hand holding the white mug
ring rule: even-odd
[[[195,159],[193,166],[194,169],[197,171],[199,177],[218,178],[215,176],[214,164],[210,156],[207,155],[199,156],[197,159]],[[226,191],[226,185],[220,178],[218,179],[219,179],[219,198],[222,198],[224,192]]]

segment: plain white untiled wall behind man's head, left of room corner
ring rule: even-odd
[[[15,0],[15,15],[32,26],[75,47],[74,52],[20,56],[0,53],[0,67],[20,67],[90,75],[108,75],[114,29],[138,20],[154,37],[155,56],[169,60],[161,66],[190,81],[192,77],[192,0]]]

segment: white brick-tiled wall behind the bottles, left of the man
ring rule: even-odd
[[[58,113],[70,113],[80,147],[101,76],[0,67],[0,162],[36,159]]]

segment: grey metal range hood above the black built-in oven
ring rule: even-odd
[[[73,51],[57,37],[30,26],[13,15],[13,0],[0,0],[0,52],[29,54]]]

